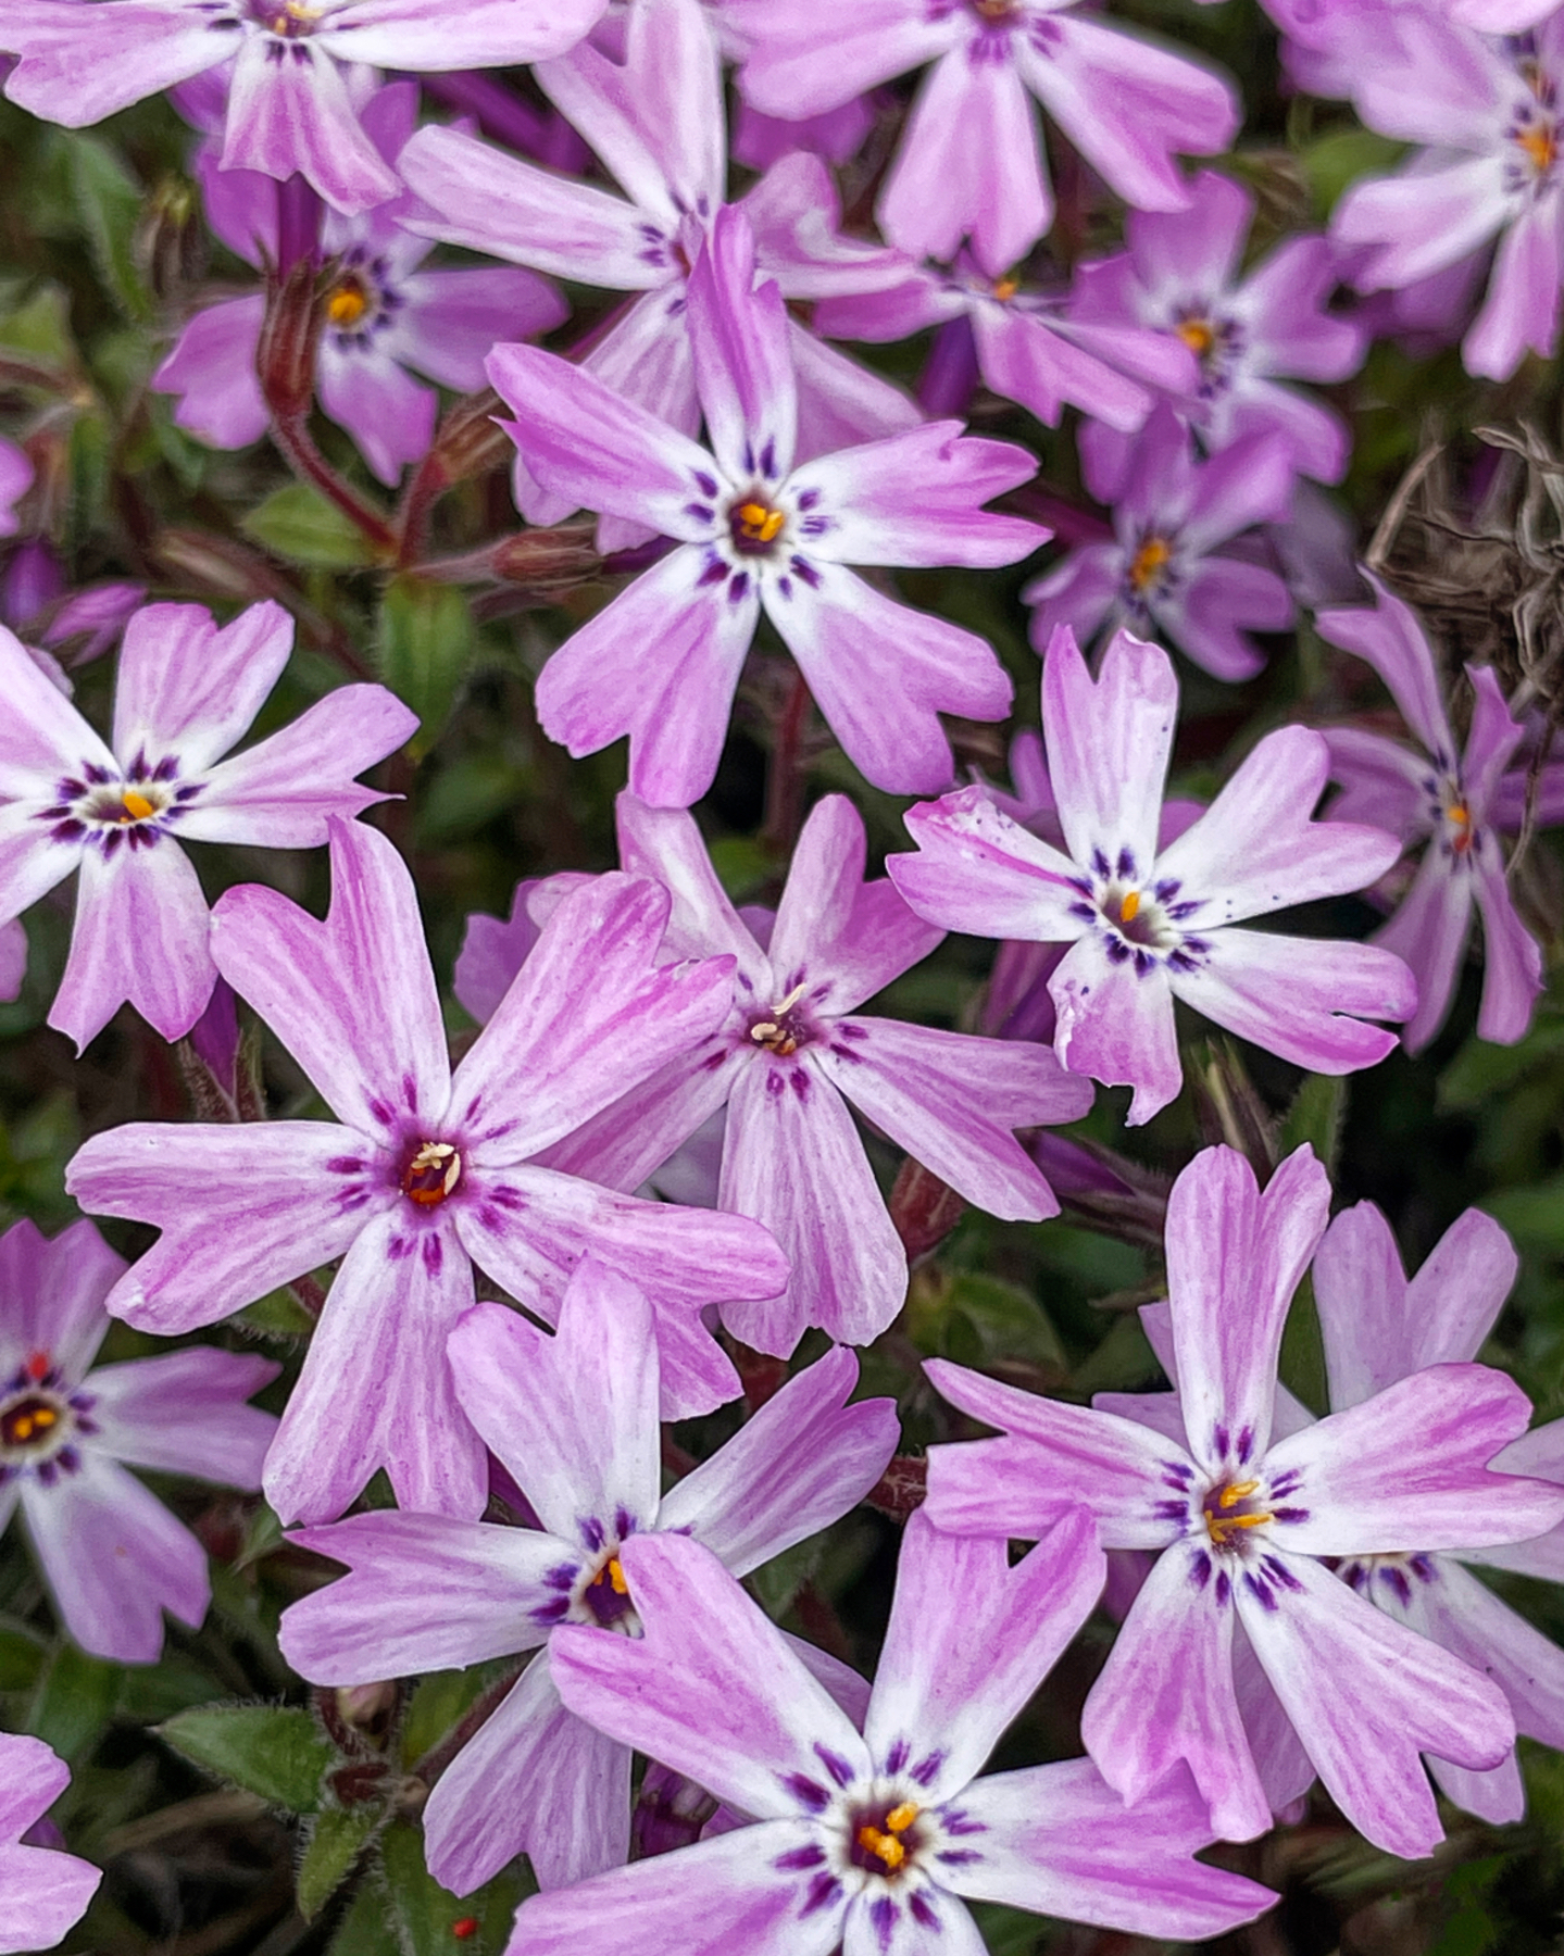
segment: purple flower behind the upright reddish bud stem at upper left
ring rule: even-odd
[[[362,125],[388,164],[417,113],[415,82],[391,82],[364,104]],[[276,264],[276,184],[254,170],[223,170],[217,156],[217,145],[206,143],[196,162],[211,229],[249,264]],[[433,246],[403,227],[411,207],[411,198],[397,198],[356,217],[329,213],[321,231],[321,248],[337,262],[317,348],[321,407],[384,483],[395,483],[435,438],[438,397],[407,368],[474,393],[491,346],[548,333],[568,317],[534,272],[419,270]],[[262,313],[260,293],[206,307],[153,376],[162,393],[182,395],[174,421],[215,448],[245,448],[270,424],[254,366]]]

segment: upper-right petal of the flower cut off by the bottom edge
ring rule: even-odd
[[[959,1794],[1092,1614],[1106,1575],[1084,1508],[1014,1567],[1004,1535],[949,1535],[912,1514],[863,1727],[879,1770],[910,1772],[932,1805]]]

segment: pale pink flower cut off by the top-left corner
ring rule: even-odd
[[[6,0],[6,94],[80,129],[227,68],[223,168],[303,176],[339,211],[397,196],[358,110],[374,68],[501,68],[574,47],[605,0]],[[231,63],[231,68],[229,68]]]

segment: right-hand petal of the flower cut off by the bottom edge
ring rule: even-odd
[[[1202,1942],[1276,1899],[1257,1882],[1194,1860],[1212,1827],[1186,1772],[1126,1807],[1088,1758],[1067,1758],[989,1774],[961,1807],[985,1829],[979,1854],[940,1878],[977,1901],[1159,1942]]]

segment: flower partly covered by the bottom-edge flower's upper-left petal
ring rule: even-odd
[[[282,1645],[317,1684],[538,1649],[440,1774],[423,1827],[431,1872],[458,1895],[519,1852],[558,1888],[619,1866],[630,1846],[630,1755],[560,1704],[548,1655],[560,1625],[640,1635],[621,1559],[632,1537],[695,1535],[742,1577],[828,1528],[885,1471],[897,1410],[889,1399],[848,1406],[857,1361],[838,1348],[662,1494],[654,1314],[595,1258],[572,1277],[554,1338],[478,1305],[450,1334],[450,1363],[468,1418],[542,1528],[356,1514],[305,1530],[292,1539],[352,1575],[294,1604]]]

